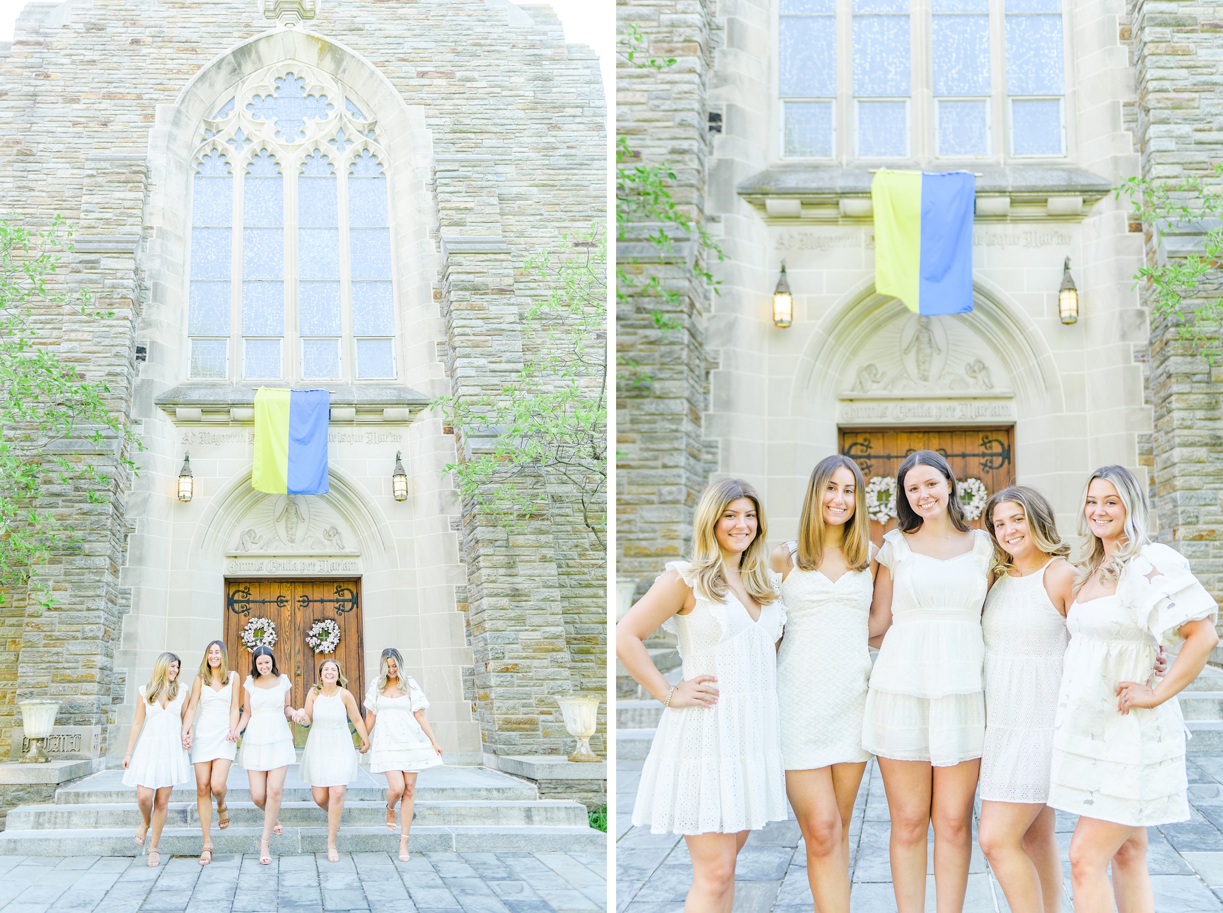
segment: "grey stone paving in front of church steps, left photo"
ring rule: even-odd
[[[607,908],[603,853],[386,853],[274,857],[0,857],[4,913],[593,913]]]

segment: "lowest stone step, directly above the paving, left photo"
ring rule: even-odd
[[[215,853],[258,853],[259,827],[213,830]],[[0,832],[0,856],[142,856],[130,827],[65,830],[17,830]],[[385,827],[341,827],[335,840],[341,852],[396,852],[399,835]],[[285,827],[273,835],[274,856],[297,856],[327,851],[327,827]],[[199,856],[203,837],[198,827],[166,827],[161,831],[163,864],[171,856]],[[593,827],[438,827],[413,826],[408,838],[411,852],[605,852],[607,835]]]

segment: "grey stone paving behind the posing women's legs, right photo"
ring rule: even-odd
[[[1150,827],[1148,865],[1159,913],[1223,912],[1223,754],[1190,754],[1189,799],[1192,820]],[[692,864],[680,837],[653,835],[630,823],[643,761],[616,764],[616,911],[680,913],[692,880]],[[980,808],[980,803],[978,803]],[[1075,818],[1058,813],[1066,878],[1063,911],[1070,912],[1070,846]],[[974,831],[976,823],[974,821]],[[888,863],[888,803],[874,761],[867,769],[850,825],[854,913],[895,911]],[[974,832],[974,838],[976,834]],[[927,853],[933,864],[933,853]],[[974,845],[965,913],[1009,913],[981,849]],[[739,854],[735,913],[811,913],[806,851],[796,821],[775,821],[756,831]],[[926,909],[934,909],[928,876]],[[7,912],[6,912],[7,913]]]

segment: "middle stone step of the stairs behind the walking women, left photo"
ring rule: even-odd
[[[262,827],[263,812],[251,802],[229,802],[230,826],[232,829]],[[342,827],[383,827],[385,830],[386,807],[382,801],[353,802],[344,804]],[[280,807],[280,821],[285,827],[325,827],[327,812],[313,802],[285,802]],[[83,804],[45,804],[18,805],[10,809],[6,820],[7,829],[43,830],[79,830],[130,829],[136,830],[141,823],[141,813],[131,797],[122,803],[83,803]],[[498,826],[498,827],[580,827],[587,824],[586,807],[580,802],[564,799],[534,799],[532,802],[417,802],[413,826]],[[166,827],[198,827],[199,813],[196,803],[171,802],[166,813]],[[216,826],[216,814],[213,814],[213,831]]]

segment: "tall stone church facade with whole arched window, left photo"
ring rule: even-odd
[[[84,758],[117,761],[154,658],[190,682],[252,617],[301,688],[314,616],[357,645],[350,687],[402,653],[448,763],[572,750],[555,697],[605,691],[602,550],[563,512],[506,532],[465,504],[445,466],[488,441],[430,402],[531,357],[520,315],[548,290],[522,264],[605,220],[605,120],[548,6],[24,10],[0,44],[0,209],[77,226],[62,281],[114,314],[39,326],[142,450],[100,502],[57,495],[84,545],[44,568],[56,604],[2,610],[0,750],[16,700],[49,694]],[[331,391],[329,494],[251,488],[258,386]]]

